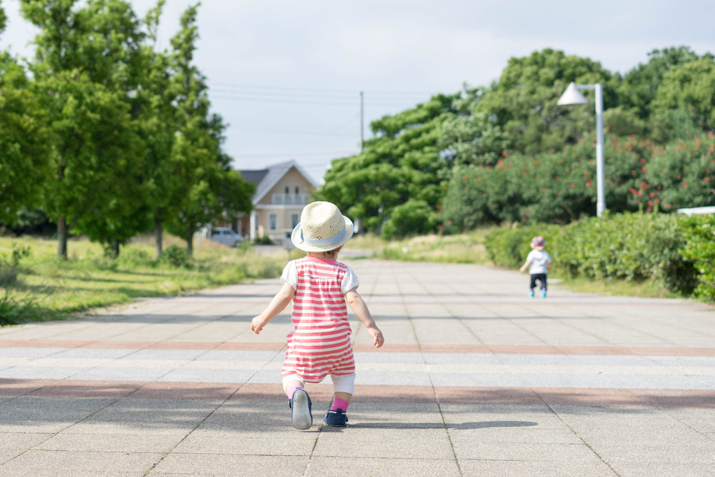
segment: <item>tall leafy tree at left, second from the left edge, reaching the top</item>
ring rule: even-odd
[[[51,178],[45,209],[57,223],[57,253],[66,258],[75,226],[111,241],[98,221],[121,219],[122,200],[141,169],[142,144],[132,117],[143,34],[131,6],[120,0],[21,0],[40,29],[31,64],[34,86],[51,132]]]

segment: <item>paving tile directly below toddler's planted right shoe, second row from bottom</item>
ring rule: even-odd
[[[444,428],[323,427],[313,456],[369,458],[454,458]]]

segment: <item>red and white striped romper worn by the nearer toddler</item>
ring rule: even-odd
[[[282,377],[306,383],[355,373],[342,278],[349,271],[335,260],[306,256],[295,261],[298,283]]]

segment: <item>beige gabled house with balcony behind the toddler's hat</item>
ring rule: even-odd
[[[318,184],[295,161],[240,173],[255,184],[256,192],[253,211],[238,222],[238,234],[251,240],[268,236],[284,241],[300,222],[300,212]]]

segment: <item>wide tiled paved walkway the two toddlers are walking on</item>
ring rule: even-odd
[[[714,308],[345,262],[386,341],[351,315],[347,428],[329,381],[292,428],[263,280],[0,328],[0,476],[715,476]]]

